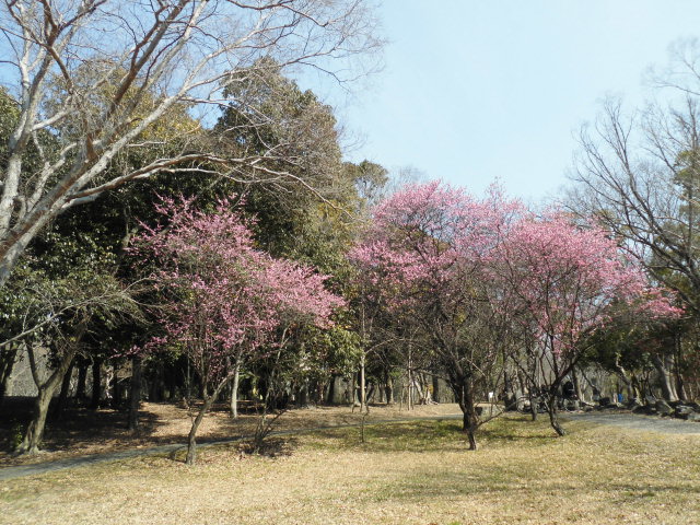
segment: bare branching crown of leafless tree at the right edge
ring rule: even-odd
[[[626,115],[619,100],[608,100],[582,129],[568,202],[625,240],[700,313],[700,46],[677,46],[655,83],[670,90],[665,104]]]

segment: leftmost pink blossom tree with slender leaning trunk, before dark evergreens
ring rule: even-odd
[[[192,464],[197,429],[238,369],[279,349],[280,330],[328,325],[342,300],[311,267],[257,249],[250,221],[230,201],[213,213],[195,210],[191,201],[164,201],[160,211],[163,224],[144,228],[132,250],[156,268],[151,277],[163,302],[164,335],[148,348],[182,349],[202,385],[203,404],[188,436],[186,462]]]

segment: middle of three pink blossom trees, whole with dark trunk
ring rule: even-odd
[[[432,182],[380,203],[350,256],[400,323],[419,326],[464,413],[469,447],[485,419],[478,397],[497,389],[508,311],[487,269],[522,211],[494,188],[483,199]]]

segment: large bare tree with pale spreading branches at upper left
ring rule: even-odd
[[[237,72],[269,67],[262,57],[342,82],[381,45],[364,0],[5,0],[0,32],[0,79],[19,110],[2,166],[0,285],[48,221],[127,182],[173,170],[290,176],[287,144],[224,154],[192,144],[184,129],[174,153],[144,131],[183,106],[211,121],[210,108],[236,103],[231,84],[245,80]],[[250,115],[241,126],[273,118]],[[51,151],[42,147],[46,135],[57,141]],[[143,164],[115,168],[119,154],[161,145]],[[30,171],[31,148],[40,162]],[[276,170],[260,162],[276,156]]]

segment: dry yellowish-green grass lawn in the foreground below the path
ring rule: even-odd
[[[457,421],[203,448],[0,482],[12,524],[700,523],[700,438],[509,416],[466,451]],[[179,458],[178,458],[179,459]]]

